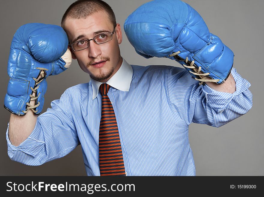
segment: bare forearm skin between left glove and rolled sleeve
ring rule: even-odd
[[[31,101],[32,106],[35,105],[35,101]],[[32,110],[29,110],[26,115],[18,116],[11,114],[9,121],[9,139],[12,145],[18,146],[21,144],[34,130],[37,115],[33,113]]]

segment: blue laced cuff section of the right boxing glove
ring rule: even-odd
[[[175,50],[178,52],[168,57],[182,64],[194,79],[200,81],[200,85],[203,82],[222,84],[233,67],[234,53],[211,33],[209,42],[198,52],[181,51],[179,48]],[[204,76],[211,79],[203,79]]]

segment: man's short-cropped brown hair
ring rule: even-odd
[[[101,0],[78,0],[71,4],[61,19],[61,27],[65,30],[65,21],[67,18],[81,19],[92,15],[98,11],[106,11],[108,19],[116,26],[116,16],[110,5]]]

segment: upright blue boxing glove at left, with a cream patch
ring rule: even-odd
[[[22,25],[10,47],[7,67],[10,80],[4,108],[16,115],[25,115],[29,110],[40,114],[47,89],[46,77],[70,66],[71,53],[67,46],[67,34],[60,26]],[[35,100],[34,106],[30,105],[31,100]]]

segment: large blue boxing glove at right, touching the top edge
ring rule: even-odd
[[[176,60],[200,84],[221,84],[232,69],[233,52],[209,32],[199,13],[182,1],[143,4],[128,16],[124,29],[138,54]]]

